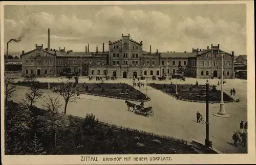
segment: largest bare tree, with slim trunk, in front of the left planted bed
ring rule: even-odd
[[[75,102],[76,98],[76,91],[73,88],[74,86],[74,82],[66,80],[66,81],[62,81],[60,83],[60,86],[57,89],[57,92],[59,92],[59,94],[64,98],[65,100],[65,111],[64,113],[67,113],[67,105],[69,102]]]

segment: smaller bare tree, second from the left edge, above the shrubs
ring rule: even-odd
[[[42,91],[38,88],[38,83],[34,82],[29,87],[25,93],[25,98],[30,102],[30,107],[37,101],[37,99],[42,98]]]

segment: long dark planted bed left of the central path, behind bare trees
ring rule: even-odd
[[[18,81],[15,85],[30,87],[30,82]],[[58,87],[60,83],[51,82],[50,89]],[[146,97],[145,94],[136,90],[130,85],[124,83],[92,83],[92,84],[78,84],[81,94],[88,94],[94,96],[102,96],[116,99],[124,99],[131,101],[150,101],[150,98]],[[48,82],[39,82],[38,87],[40,89],[48,89]]]

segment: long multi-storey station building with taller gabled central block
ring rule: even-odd
[[[49,45],[49,44],[48,44]],[[65,68],[88,76],[152,77],[172,75],[179,67],[185,75],[197,78],[221,76],[223,55],[224,78],[234,78],[234,52],[231,54],[220,49],[220,45],[207,49],[192,49],[191,52],[155,52],[144,51],[143,41],[134,41],[122,35],[117,41],[109,41],[109,50],[90,52],[89,44],[84,52],[63,49],[44,48],[35,45],[35,49],[22,52],[23,76],[60,76]]]

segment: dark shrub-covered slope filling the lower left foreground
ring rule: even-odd
[[[5,154],[196,154],[184,140],[8,102]]]

